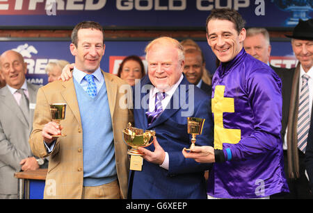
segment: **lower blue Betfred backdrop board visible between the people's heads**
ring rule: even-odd
[[[106,72],[117,74],[122,58],[137,55],[143,58],[145,67],[145,46],[149,41],[106,41],[106,50],[102,58],[101,68]],[[27,62],[28,73],[26,78],[31,83],[38,85],[47,84],[45,67],[48,62],[55,60],[67,60],[74,62],[74,56],[70,53],[70,41],[6,41],[0,42],[0,53],[8,49],[18,51]],[[216,56],[206,41],[197,41],[204,53],[207,70],[214,74],[216,70]],[[275,67],[295,67],[296,60],[291,49],[290,42],[271,42],[271,65]],[[146,69],[147,71],[147,69]]]

